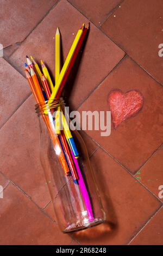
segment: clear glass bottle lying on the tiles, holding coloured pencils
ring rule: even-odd
[[[36,105],[35,109],[40,124],[40,160],[57,222],[64,233],[90,228],[105,221],[105,212],[86,145],[77,130],[71,131],[79,153],[78,158],[72,156],[78,177],[76,181],[68,164],[69,172],[65,171],[62,161],[67,158],[61,148],[61,135],[55,133],[54,111],[57,111],[59,106],[64,112],[64,104],[61,100],[53,101],[50,106],[46,103]],[[61,131],[61,134],[63,133]],[[67,141],[66,143],[70,147]]]

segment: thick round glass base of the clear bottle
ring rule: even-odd
[[[76,231],[79,231],[79,230],[95,227],[96,225],[99,225],[99,224],[101,224],[103,222],[105,222],[104,219],[102,219],[102,218],[95,218],[93,221],[89,221],[87,223],[71,224],[65,230],[63,230],[62,232],[63,233],[76,232]]]

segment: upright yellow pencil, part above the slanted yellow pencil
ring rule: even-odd
[[[60,32],[59,28],[55,33],[55,83],[57,83],[60,74]]]

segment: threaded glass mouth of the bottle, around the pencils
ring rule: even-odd
[[[54,99],[51,101],[43,101],[35,105],[35,112],[37,115],[48,114],[52,109],[65,106],[65,102],[62,98]]]

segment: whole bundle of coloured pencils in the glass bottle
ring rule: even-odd
[[[53,106],[53,102],[59,99],[88,31],[89,25],[85,27],[84,24],[82,28],[78,30],[70,51],[66,57],[65,63],[60,70],[60,31],[59,28],[57,28],[57,32],[55,34],[55,84],[52,81],[48,69],[42,60],[41,71],[34,58],[32,56],[30,56],[30,58],[26,56],[26,77],[37,104],[41,105],[41,103],[46,102],[45,104],[48,109],[48,106]],[[47,126],[54,148],[60,149],[60,154],[58,157],[61,166],[64,169],[65,175],[69,175],[71,173],[74,185],[80,187],[89,220],[92,221],[93,212],[89,193],[87,192],[82,172],[79,167],[78,150],[72,137],[70,128],[67,124],[65,114],[61,107],[58,105],[57,112],[55,114],[55,129],[52,129],[47,109],[44,111],[42,117]],[[63,131],[60,129],[60,120],[62,123]]]

